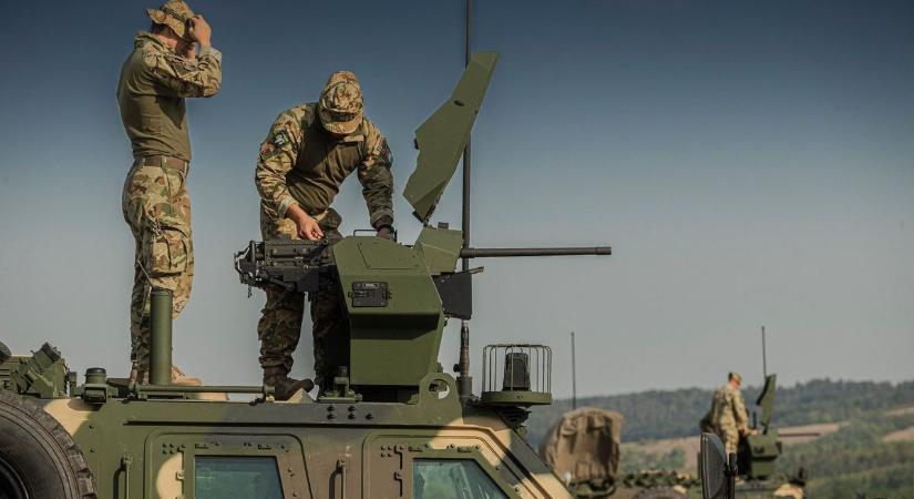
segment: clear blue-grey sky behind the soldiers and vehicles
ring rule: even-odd
[[[414,130],[463,65],[463,2],[194,1],[224,53],[188,102],[196,279],[175,363],[259,383],[264,303],[233,253],[258,238],[254,164],[285,109],[359,77],[400,195]],[[0,340],[129,369],[131,152],[114,90],[136,1],[6,6],[0,30]],[[475,246],[610,245],[610,257],[474,261],[472,369],[500,342],[552,346],[554,394],[914,378],[914,3],[476,1],[501,53],[473,133]],[[433,222],[460,225],[460,181]],[[368,226],[358,181],[335,207]],[[310,375],[310,323],[292,374]],[[456,360],[445,332],[441,364]]]

